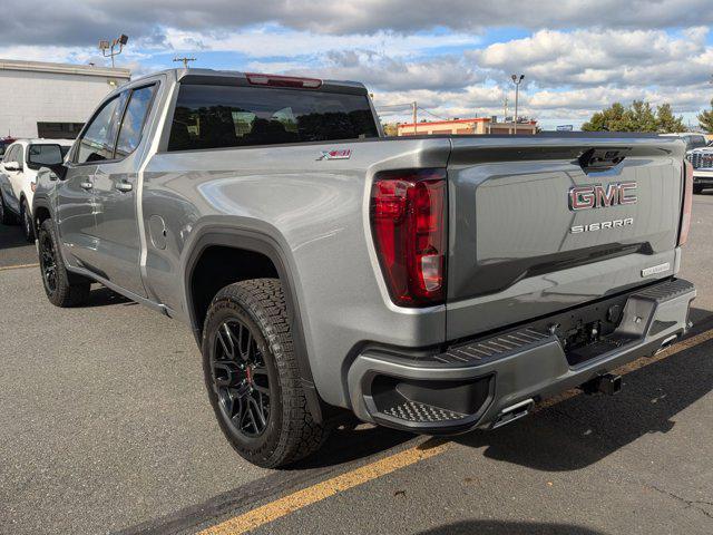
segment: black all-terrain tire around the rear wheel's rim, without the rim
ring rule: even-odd
[[[222,406],[224,390],[216,382],[219,372],[214,366],[216,361],[225,362],[221,360],[224,356],[218,358],[218,330],[224,332],[226,324],[242,324],[250,330],[261,367],[266,369],[270,411],[264,430],[257,436],[241,430]],[[205,319],[202,352],[211,405],[225,437],[243,458],[264,468],[276,468],[295,463],[322,446],[328,429],[316,424],[307,409],[279,280],[253,279],[222,289]]]

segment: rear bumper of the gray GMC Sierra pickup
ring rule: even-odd
[[[541,322],[437,354],[367,349],[348,372],[352,408],[363,420],[416,432],[495,427],[675,341],[687,330],[695,294],[692,283],[677,279],[623,296],[618,327],[577,349],[577,359]]]

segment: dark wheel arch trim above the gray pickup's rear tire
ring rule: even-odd
[[[211,251],[215,251],[216,249],[244,253],[247,260],[258,257],[266,259],[272,266],[273,276],[276,275],[282,282],[294,343],[294,354],[297,360],[300,378],[307,400],[307,409],[315,421],[322,422],[324,419],[324,403],[316,391],[310,367],[302,313],[295,292],[297,283],[293,273],[294,270],[291,269],[289,257],[284,253],[285,246],[279,242],[279,239],[257,230],[227,226],[207,226],[201,228],[199,234],[192,241],[183,262],[184,303],[198,347],[201,347],[203,321],[205,320],[207,308],[206,310],[202,310],[202,300],[196,295],[196,276],[199,275],[199,270],[202,265],[204,265],[202,261],[205,261],[206,255],[209,255]],[[271,272],[267,271],[267,273]],[[267,276],[270,276],[270,274]],[[228,284],[245,279],[246,278],[241,279],[237,276],[236,280],[228,282]],[[219,288],[217,290],[219,290]],[[215,293],[217,293],[217,290]],[[215,293],[207,298],[208,304],[215,296]],[[205,298],[203,298],[203,302],[205,302]]]

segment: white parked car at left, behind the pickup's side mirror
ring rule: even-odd
[[[22,223],[25,237],[35,240],[32,197],[40,167],[61,164],[71,139],[19,139],[7,147],[0,164],[0,222]]]

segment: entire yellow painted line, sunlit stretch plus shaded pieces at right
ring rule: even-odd
[[[711,339],[713,339],[713,329],[672,346],[653,358],[644,357],[637,359],[629,364],[625,364],[615,370],[615,372],[619,374],[629,373],[672,357],[681,351],[685,351],[686,349],[707,342]],[[539,403],[537,410],[541,410],[545,407],[551,407],[553,405],[557,405],[566,399],[574,398],[579,393],[582,393],[579,390],[568,390],[561,396],[557,396]],[[293,494],[279,498],[275,502],[271,502],[253,510],[248,510],[240,516],[228,518],[221,524],[199,532],[199,535],[236,535],[255,529],[262,525],[286,516],[290,513],[294,513],[303,507],[329,498],[330,496],[334,496],[335,494],[363,485],[364,483],[373,479],[378,479],[379,477],[391,474],[392,471],[440,455],[448,448],[449,444],[450,442],[437,441],[434,439],[428,440],[420,446],[409,448],[404,451],[377,460],[325,481],[316,483],[311,487],[297,490]]]

